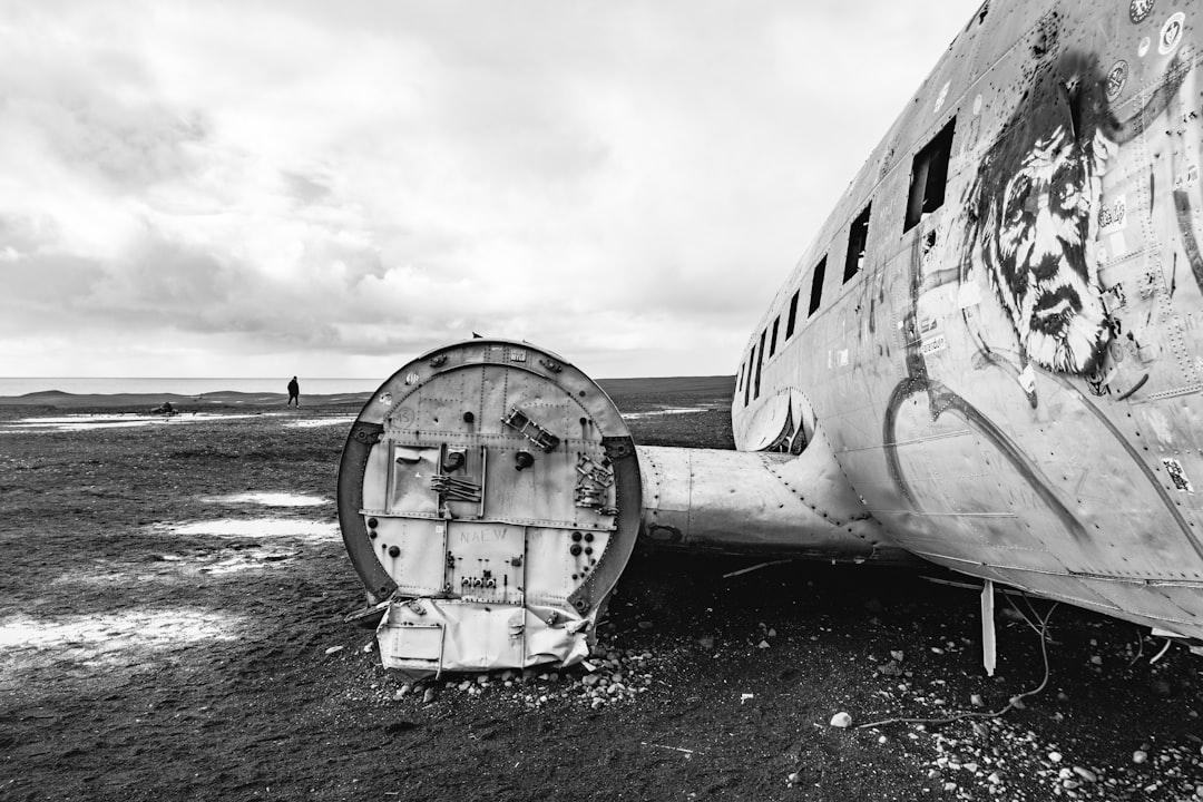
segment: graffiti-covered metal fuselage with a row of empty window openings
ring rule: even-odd
[[[753,329],[745,363],[800,293],[737,447],[804,393],[897,545],[1203,637],[1201,25],[1198,1],[974,14]],[[942,167],[941,203],[912,173]]]

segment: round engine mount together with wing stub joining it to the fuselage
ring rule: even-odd
[[[822,438],[801,457],[636,450],[583,373],[492,339],[426,354],[372,396],[338,507],[381,659],[411,673],[583,659],[641,530],[686,548],[901,554]]]

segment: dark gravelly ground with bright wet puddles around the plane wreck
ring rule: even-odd
[[[701,408],[634,418],[641,442],[729,447],[730,380],[712,382],[609,390],[626,411]],[[1018,616],[1000,614],[986,678],[978,595],[882,569],[724,578],[752,560],[639,552],[600,643],[651,654],[633,701],[591,709],[581,669],[397,700],[405,678],[343,623],[363,604],[332,503],[348,427],[285,427],[356,411],[0,433],[0,798],[1178,800],[1203,784],[1203,663],[1179,646],[1151,663],[1160,638],[1065,606],[1024,709],[830,726],[979,711],[974,694],[994,709],[1044,676]],[[0,429],[29,414],[4,408]],[[324,503],[223,498],[248,491]],[[261,531],[178,530],[226,519]]]

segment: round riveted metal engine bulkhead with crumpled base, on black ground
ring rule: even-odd
[[[385,666],[479,671],[588,654],[634,547],[639,463],[585,374],[474,339],[407,364],[351,427],[339,523]]]

